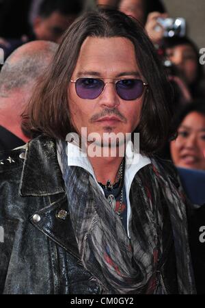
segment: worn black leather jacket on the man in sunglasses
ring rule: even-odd
[[[5,152],[0,159],[0,293],[102,293],[79,259],[55,141],[36,138],[29,151]],[[173,294],[178,283],[167,210],[163,220],[159,283]]]

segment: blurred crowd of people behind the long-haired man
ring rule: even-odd
[[[160,0],[1,0],[0,47],[4,63],[1,61],[0,151],[21,146],[31,138],[22,126],[22,114],[36,81],[53,60],[64,31],[82,12],[97,5],[136,18],[167,72],[173,90],[170,112],[176,139],[167,140],[158,155],[172,159],[182,181],[183,168],[205,171],[205,87],[200,49],[189,38],[183,21],[170,20],[172,16]],[[195,184],[187,188],[188,195]]]

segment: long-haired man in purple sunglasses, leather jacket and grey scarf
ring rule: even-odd
[[[176,172],[154,157],[170,97],[132,18],[99,10],[68,29],[25,113],[36,138],[1,160],[1,292],[195,293]]]

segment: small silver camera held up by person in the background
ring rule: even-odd
[[[157,18],[156,20],[165,29],[164,37],[172,38],[173,36],[185,36],[186,21],[182,17],[178,18]],[[156,31],[157,27],[155,28]]]

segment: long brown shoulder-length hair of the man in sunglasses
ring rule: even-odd
[[[69,27],[25,112],[26,130],[61,139],[73,131],[68,107],[68,84],[87,36],[124,37],[133,42],[137,64],[149,85],[135,131],[140,133],[141,151],[154,153],[159,150],[172,134],[169,130],[172,97],[169,82],[154,46],[141,25],[117,10],[86,12]]]

